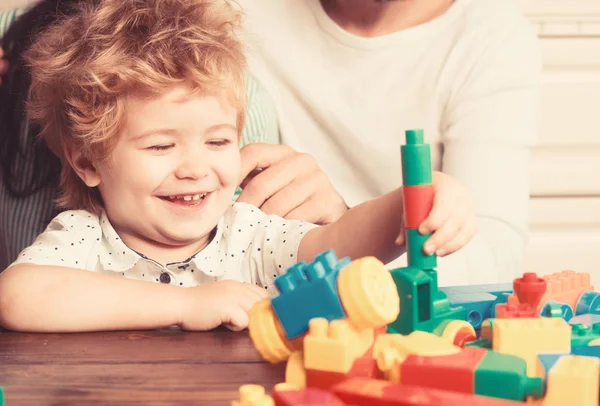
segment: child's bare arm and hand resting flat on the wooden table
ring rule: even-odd
[[[18,264],[0,275],[0,325],[27,332],[246,327],[264,297],[252,284],[182,288],[74,268]]]

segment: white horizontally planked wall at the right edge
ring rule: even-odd
[[[521,0],[544,53],[526,271],[600,287],[600,0]]]

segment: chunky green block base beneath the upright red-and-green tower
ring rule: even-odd
[[[410,334],[415,330],[441,334],[441,324],[450,320],[466,320],[462,307],[451,308],[445,293],[438,290],[437,272],[415,267],[390,271],[398,295],[400,314],[388,325],[389,333]]]

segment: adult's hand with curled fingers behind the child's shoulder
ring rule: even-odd
[[[325,225],[348,206],[309,154],[287,145],[253,143],[241,149],[242,193],[238,202],[289,220]]]

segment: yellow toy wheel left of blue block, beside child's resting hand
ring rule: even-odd
[[[287,339],[273,311],[271,301],[262,299],[252,306],[248,313],[250,338],[260,355],[268,362],[285,361],[296,348],[298,341]]]

